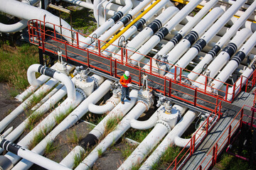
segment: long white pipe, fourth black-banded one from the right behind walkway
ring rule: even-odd
[[[203,34],[202,38],[199,39],[187,52],[183,57],[181,57],[180,60],[175,64],[178,67],[185,68],[191,60],[193,60],[196,55],[198,55],[198,52],[200,52],[203,47],[205,47],[208,42],[214,37],[216,33],[222,28],[225,23],[227,23],[230,18],[235,14],[235,11],[238,11],[238,9],[242,6],[242,4],[245,4],[245,0],[239,0],[236,1],[235,4],[230,6],[227,11],[221,16],[218,21],[216,21],[213,26],[211,26],[208,31]],[[174,78],[174,72],[176,67],[172,67],[170,72],[166,74],[166,77]],[[179,74],[179,69],[176,70],[176,72]]]

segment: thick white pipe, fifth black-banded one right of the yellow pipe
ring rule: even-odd
[[[179,42],[173,50],[171,50],[167,58],[170,64],[175,64],[191,45],[224,13],[222,8],[213,8],[184,38]]]

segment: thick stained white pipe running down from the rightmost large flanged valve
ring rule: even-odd
[[[164,122],[164,121],[162,121]],[[142,163],[144,158],[151,152],[159,141],[171,130],[167,123],[157,123],[153,130],[145,137],[145,139],[134,149],[132,154],[119,166],[118,170],[132,169],[133,166]]]

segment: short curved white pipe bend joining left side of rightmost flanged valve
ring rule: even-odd
[[[149,128],[154,127],[157,121],[157,113],[155,112],[148,120],[145,121],[139,121],[132,119],[131,120],[131,127],[137,130],[147,130]]]

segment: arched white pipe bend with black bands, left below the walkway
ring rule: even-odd
[[[40,86],[43,84],[40,80],[36,79],[36,74],[35,72],[44,74],[48,77],[52,77],[54,79],[57,79],[58,81],[63,82],[63,84],[66,86],[67,91],[68,91],[68,98],[71,100],[75,100],[75,85],[73,84],[73,81],[66,76],[63,73],[56,72],[54,69],[50,69],[48,67],[44,67],[41,64],[32,64],[30,67],[28,67],[28,83],[31,84],[32,86]]]

